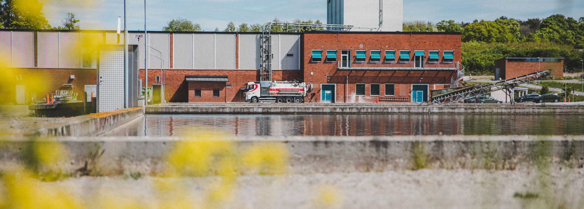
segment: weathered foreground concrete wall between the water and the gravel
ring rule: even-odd
[[[67,137],[58,138],[68,150],[60,163],[74,171],[89,159],[89,150],[105,149],[100,163],[112,173],[159,173],[165,156],[187,138],[180,137]],[[533,165],[550,157],[555,162],[584,165],[584,136],[250,136],[233,137],[238,152],[258,142],[282,142],[290,156],[291,173],[328,173],[368,170],[412,169],[416,157],[429,168],[513,169]],[[30,142],[0,142],[2,166],[22,164]]]

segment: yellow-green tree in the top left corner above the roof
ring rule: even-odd
[[[0,25],[10,29],[50,29],[37,0],[0,0]]]

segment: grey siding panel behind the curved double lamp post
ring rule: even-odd
[[[164,66],[162,67],[166,69],[168,69],[170,66],[169,42],[170,42],[169,33],[148,33],[148,45],[162,53],[161,58],[162,60],[164,60]],[[160,53],[152,49],[150,49],[150,53],[156,54],[158,57],[161,56]],[[160,64],[161,61],[158,58],[154,56],[150,56],[150,58],[148,58],[149,69],[160,69]]]

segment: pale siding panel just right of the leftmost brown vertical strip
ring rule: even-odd
[[[46,68],[59,67],[59,34],[58,32],[37,33],[37,65]]]

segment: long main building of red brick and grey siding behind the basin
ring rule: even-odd
[[[134,38],[143,34],[129,33],[145,85],[144,39]],[[150,53],[160,58],[148,59],[148,86],[165,84],[168,102],[243,101],[244,84],[259,80],[259,35],[148,32]],[[110,30],[0,29],[0,67],[12,69],[3,100],[30,104],[66,83],[82,95],[96,84],[96,45],[117,40]],[[272,33],[272,79],[313,83],[312,102],[418,102],[457,83],[460,49],[460,33]],[[225,79],[195,79],[206,76]],[[25,86],[31,81],[38,85]]]

